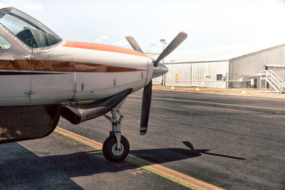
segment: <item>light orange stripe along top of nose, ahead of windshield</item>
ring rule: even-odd
[[[120,48],[117,46],[109,46],[109,45],[104,45],[104,44],[98,44],[98,43],[66,41],[66,43],[63,45],[63,47],[83,48],[83,49],[96,50],[96,51],[109,51],[109,52],[115,52],[115,53],[124,53],[124,54],[129,54],[129,55],[134,55],[134,56],[147,57],[145,54],[140,53],[139,51],[134,51],[134,50],[127,49],[127,48]]]

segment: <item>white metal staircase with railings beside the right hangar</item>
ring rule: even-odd
[[[276,75],[273,70],[261,70],[260,71],[260,89],[261,89],[261,80],[265,80],[265,90],[267,91],[267,83],[273,88],[274,93],[285,93],[285,83],[279,75]],[[268,92],[268,91],[267,91]]]

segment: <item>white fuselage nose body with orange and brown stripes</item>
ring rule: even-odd
[[[115,46],[63,41],[3,55],[0,106],[100,100],[129,88],[139,90],[152,78],[150,58]]]

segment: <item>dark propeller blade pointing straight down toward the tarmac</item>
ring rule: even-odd
[[[150,102],[152,95],[152,80],[143,88],[142,113],[140,116],[140,135],[147,132],[148,117],[150,116]]]

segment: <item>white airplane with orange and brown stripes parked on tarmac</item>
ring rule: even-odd
[[[120,107],[144,88],[140,134],[145,134],[152,78],[167,73],[160,60],[185,38],[180,32],[154,60],[131,36],[126,39],[133,50],[64,41],[31,16],[0,4],[0,143],[46,137],[60,117],[78,125],[103,115],[112,124],[103,155],[122,162],[130,144],[120,132]]]

